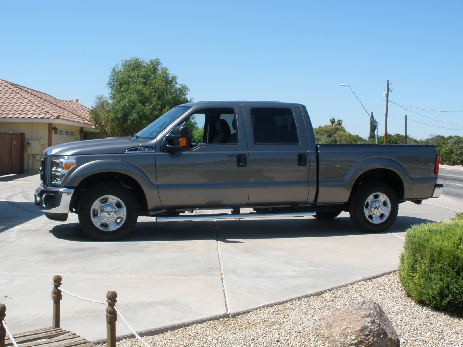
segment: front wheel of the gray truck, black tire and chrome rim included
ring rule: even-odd
[[[124,186],[100,183],[82,196],[77,215],[81,228],[92,239],[119,240],[137,223],[137,200]]]

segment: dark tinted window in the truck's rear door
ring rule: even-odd
[[[288,108],[251,108],[255,144],[298,144],[293,112]]]

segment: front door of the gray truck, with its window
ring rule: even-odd
[[[245,205],[249,166],[241,107],[195,108],[176,125],[183,124],[188,126],[189,150],[169,153],[156,145],[156,178],[163,207]]]

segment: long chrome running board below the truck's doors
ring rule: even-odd
[[[238,219],[282,219],[285,217],[307,218],[313,216],[315,212],[299,212],[299,213],[244,213],[238,215],[228,214],[213,214],[213,215],[186,215],[175,217],[155,217],[156,222],[181,222],[181,221],[215,221],[215,220],[238,220]]]

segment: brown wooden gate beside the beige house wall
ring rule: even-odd
[[[0,133],[0,176],[24,172],[24,134]]]

